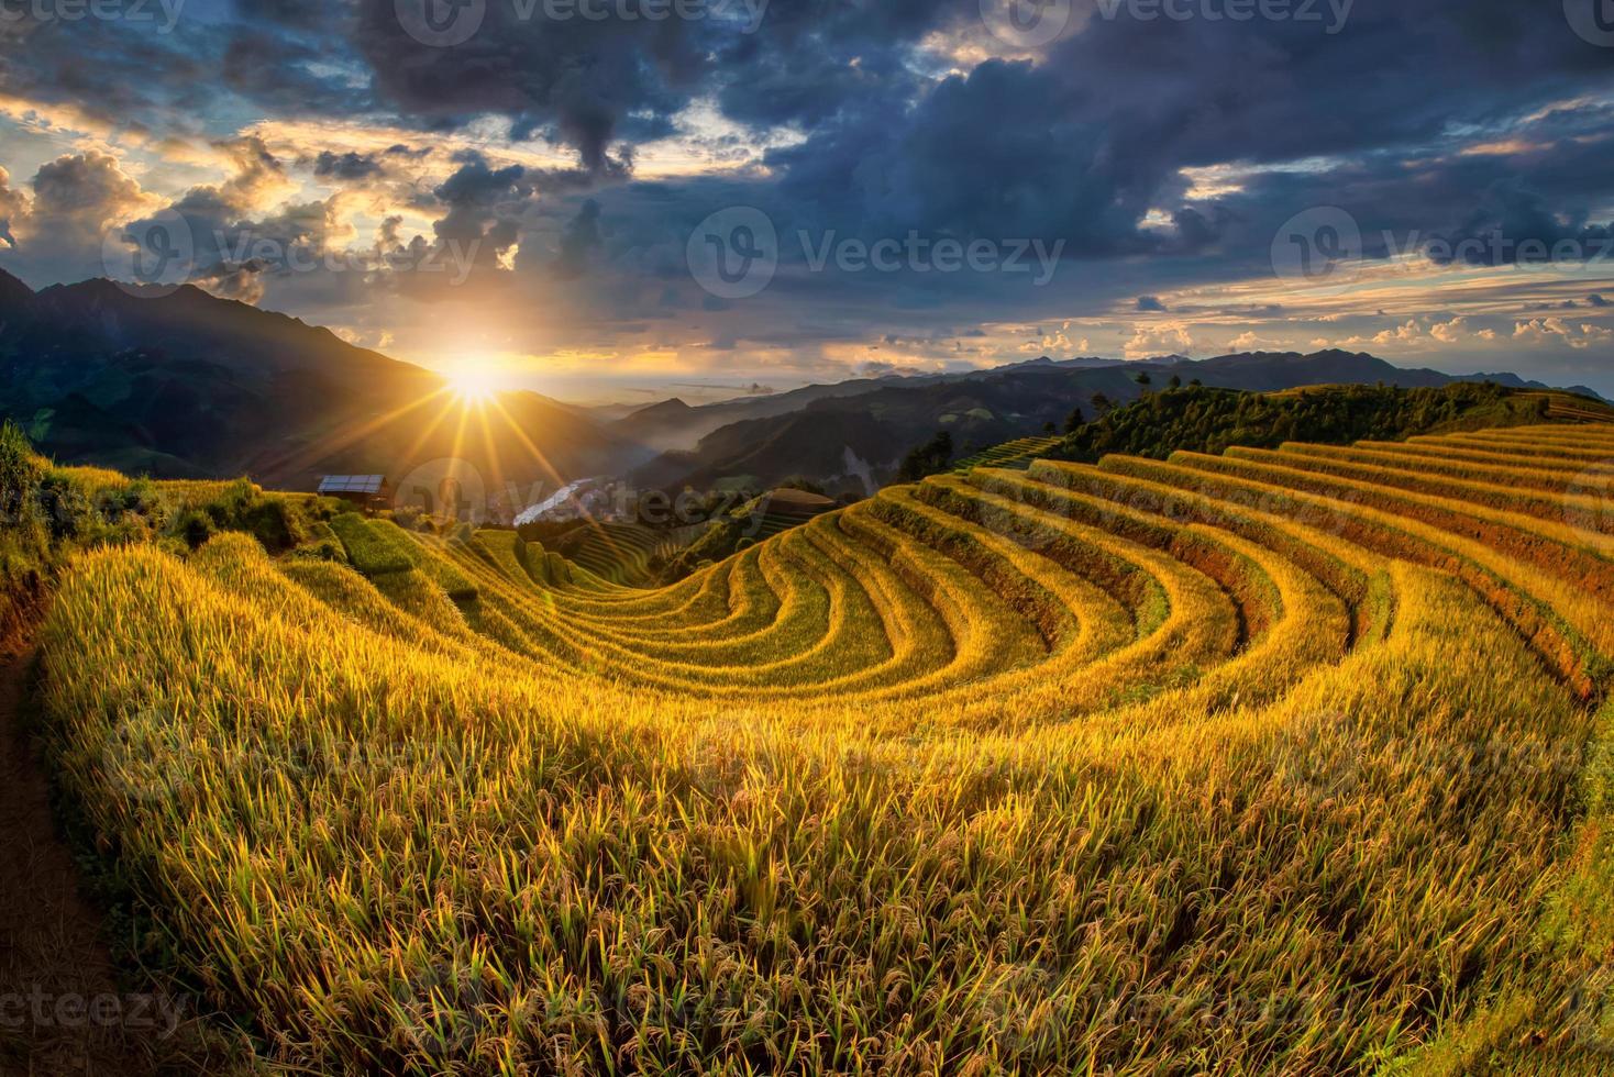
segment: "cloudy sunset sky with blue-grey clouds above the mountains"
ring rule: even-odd
[[[697,401],[1372,351],[1614,395],[1606,0],[0,0],[0,268]]]

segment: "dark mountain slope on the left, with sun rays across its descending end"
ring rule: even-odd
[[[63,463],[282,489],[457,456],[525,492],[654,455],[537,393],[463,405],[429,371],[192,287],[36,293],[3,271],[0,414]]]

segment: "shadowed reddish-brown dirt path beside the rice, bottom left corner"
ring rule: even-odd
[[[118,982],[24,729],[34,658],[0,661],[0,1074],[152,1074],[158,1000]]]

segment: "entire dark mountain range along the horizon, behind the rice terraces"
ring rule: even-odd
[[[1419,387],[1496,380],[1401,369],[1348,351],[1241,353],[1148,363],[1041,358],[986,371],[854,379],[794,392],[634,411],[584,410],[534,392],[465,406],[421,368],[353,347],[328,329],[192,287],[131,293],[108,281],[31,290],[0,271],[0,416],[63,463],[157,477],[250,474],[312,489],[323,474],[402,479],[444,458],[475,464],[491,490],[629,476],[646,489],[757,489],[791,477],[867,492],[938,430],[962,453],[1064,429],[1094,393],[1136,400],[1148,374],[1280,390],[1323,382]],[[1595,395],[1587,389],[1574,389]]]

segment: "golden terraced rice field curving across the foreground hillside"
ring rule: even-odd
[[[56,763],[316,1072],[1608,1072],[1609,427],[897,487],[665,590],[87,556]]]

